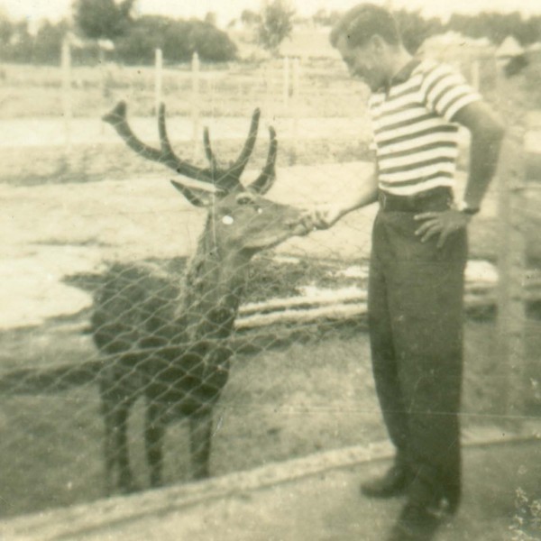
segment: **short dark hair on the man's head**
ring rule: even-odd
[[[399,45],[399,26],[390,11],[373,4],[356,5],[335,24],[329,39],[336,47],[340,36],[347,38],[350,47],[362,47],[372,36],[379,35],[390,45]]]

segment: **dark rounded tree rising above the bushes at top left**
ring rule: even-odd
[[[76,0],[75,22],[91,40],[115,41],[128,31],[135,0]]]

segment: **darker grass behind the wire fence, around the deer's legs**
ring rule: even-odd
[[[537,329],[538,330],[538,329]],[[533,331],[533,329],[532,329]],[[501,380],[491,322],[466,326],[463,425],[498,424]],[[541,345],[530,335],[530,360]],[[19,342],[22,354],[27,353]],[[72,354],[92,355],[88,340]],[[53,337],[41,357],[69,352]],[[537,369],[538,371],[538,369]],[[135,472],[147,486],[142,447],[142,408],[133,412],[130,440]],[[3,397],[0,513],[11,516],[95,500],[103,495],[102,419],[92,385],[55,395]],[[368,337],[336,330],[305,344],[236,358],[215,410],[212,471],[240,471],[346,445],[385,438],[371,378]],[[188,429],[170,426],[168,483],[189,479]]]

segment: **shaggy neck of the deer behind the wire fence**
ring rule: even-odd
[[[231,335],[243,295],[248,259],[222,253],[207,232],[188,264],[179,303],[188,341]]]

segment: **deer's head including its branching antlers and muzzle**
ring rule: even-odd
[[[297,208],[280,205],[263,197],[276,177],[278,142],[272,127],[269,129],[271,142],[267,161],[260,175],[247,186],[243,186],[241,182],[241,175],[257,138],[259,109],[252,115],[250,132],[239,157],[227,168],[219,167],[207,129],[204,133],[204,145],[209,166],[199,168],[180,160],[170,145],[165,126],[164,105],[160,105],[158,121],[160,149],[148,146],[134,135],[127,122],[124,102],[118,103],[103,119],[112,124],[124,142],[143,158],[158,161],[182,177],[197,181],[188,183],[184,179],[171,180],[173,186],[192,205],[207,208],[207,231],[215,241],[216,250],[252,255],[279,244],[294,234],[304,233],[304,228],[299,225],[300,212]]]

